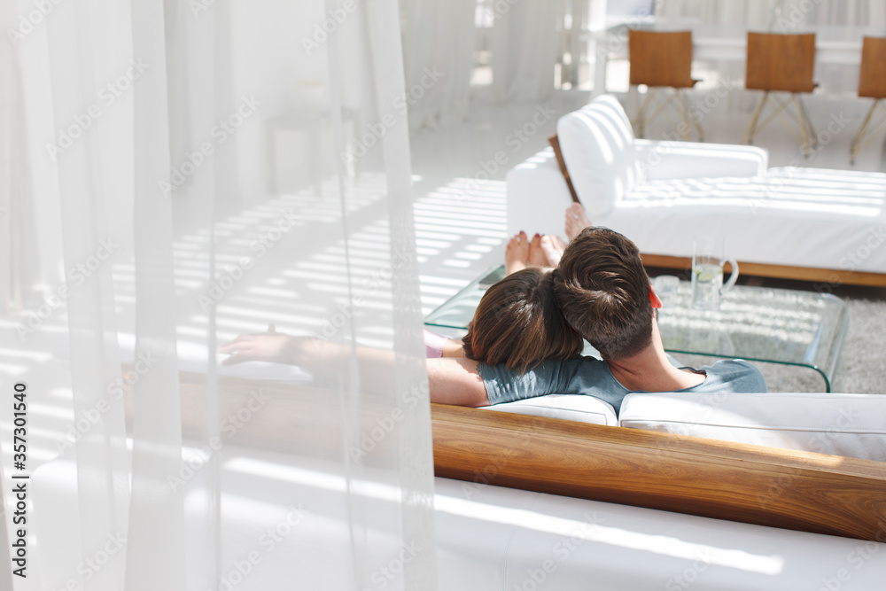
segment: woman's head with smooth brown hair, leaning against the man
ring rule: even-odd
[[[543,359],[574,357],[584,345],[556,305],[550,269],[537,267],[486,290],[462,342],[470,359],[521,371]]]

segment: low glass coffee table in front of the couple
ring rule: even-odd
[[[491,268],[456,293],[424,324],[461,337],[489,285],[504,276]],[[674,354],[779,363],[814,369],[830,392],[843,339],[849,330],[846,304],[829,293],[736,285],[723,294],[717,311],[692,307],[688,282],[659,293],[658,328],[664,349]]]

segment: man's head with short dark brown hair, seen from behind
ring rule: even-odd
[[[608,228],[590,227],[563,252],[554,272],[557,304],[572,328],[611,360],[649,346],[653,306],[640,251]]]

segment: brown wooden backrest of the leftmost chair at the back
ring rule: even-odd
[[[692,88],[692,31],[629,30],[631,84]]]

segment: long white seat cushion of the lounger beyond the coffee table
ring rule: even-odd
[[[739,261],[886,272],[886,175],[773,168],[763,177],[639,185],[594,220],[641,253],[692,256],[692,238],[724,237]]]

